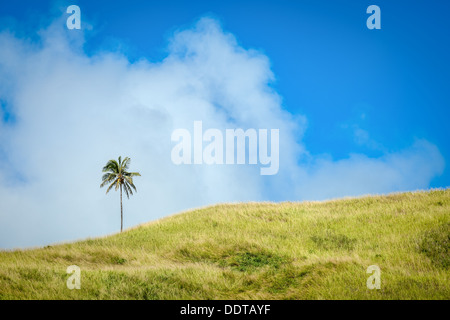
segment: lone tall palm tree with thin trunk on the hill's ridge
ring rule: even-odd
[[[123,229],[123,207],[122,207],[122,187],[125,190],[127,198],[130,198],[130,194],[133,195],[132,189],[136,192],[136,187],[133,183],[133,177],[141,176],[139,172],[128,172],[130,166],[130,158],[125,157],[125,159],[119,157],[119,162],[116,160],[109,160],[106,166],[103,167],[103,172],[106,172],[102,177],[102,183],[100,188],[110,184],[106,193],[111,190],[113,186],[117,189],[120,188],[120,232]]]

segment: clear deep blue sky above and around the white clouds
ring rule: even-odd
[[[420,137],[450,157],[446,2],[19,1],[3,3],[1,16],[32,34],[70,4],[94,25],[87,53],[121,50],[130,60],[159,61],[171,32],[204,15],[217,18],[241,45],[269,57],[283,107],[308,117],[304,141],[312,153],[377,156]],[[366,27],[371,4],[382,10],[381,30]],[[383,150],[358,143],[355,127]],[[431,184],[449,185],[449,170]]]

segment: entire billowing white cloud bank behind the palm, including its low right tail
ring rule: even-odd
[[[317,200],[427,188],[442,173],[425,140],[380,158],[310,155],[306,118],[282,108],[262,53],[241,47],[211,18],[175,32],[161,62],[83,52],[83,35],[57,20],[40,41],[0,34],[0,248],[95,237],[119,229],[119,196],[99,188],[119,155],[139,171],[125,227],[230,201]],[[6,116],[7,114],[7,116]],[[171,161],[171,133],[280,129],[275,176],[251,165]]]

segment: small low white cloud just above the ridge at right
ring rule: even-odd
[[[309,199],[329,199],[362,194],[427,188],[442,173],[444,160],[426,140],[380,158],[353,154],[348,159],[318,159],[298,185],[297,194]]]

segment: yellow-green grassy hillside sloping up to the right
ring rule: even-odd
[[[221,204],[0,252],[1,299],[450,299],[450,190]],[[69,290],[66,268],[81,268]],[[367,267],[381,289],[366,287]]]

